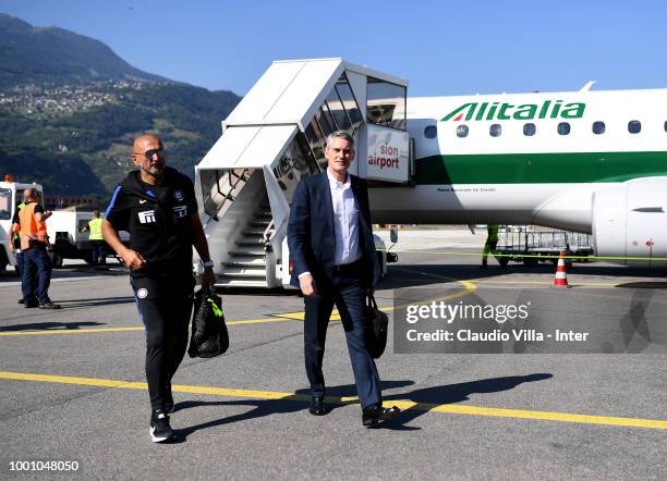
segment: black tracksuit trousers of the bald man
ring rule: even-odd
[[[140,318],[146,326],[146,381],[150,408],[165,409],[171,378],[187,348],[192,274],[131,279]]]

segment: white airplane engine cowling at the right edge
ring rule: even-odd
[[[667,177],[644,177],[593,194],[593,246],[596,256],[641,257],[619,263],[667,267]],[[616,262],[616,261],[615,261]]]

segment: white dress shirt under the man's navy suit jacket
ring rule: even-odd
[[[350,174],[345,182],[339,182],[327,169],[327,177],[329,177],[331,205],[333,206],[333,233],[336,235],[333,264],[341,266],[361,258],[359,210],[352,192]]]

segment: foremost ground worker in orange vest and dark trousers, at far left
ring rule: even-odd
[[[49,285],[51,284],[51,259],[47,248],[49,236],[47,235],[46,220],[51,217],[50,210],[45,210],[40,203],[40,194],[36,188],[24,192],[25,207],[19,211],[21,225],[21,251],[23,252],[23,275],[21,287],[23,300],[26,308],[39,307],[40,309],[60,309],[49,298]],[[37,289],[33,279],[37,275]],[[37,297],[37,304],[33,300]]]

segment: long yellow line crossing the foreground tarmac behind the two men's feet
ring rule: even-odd
[[[116,387],[122,390],[146,391],[144,382],[114,381],[110,379],[75,378],[69,375],[31,374],[23,372],[0,371],[0,379],[13,381],[36,381],[57,384],[77,384],[86,386]],[[213,386],[172,385],[172,390],[179,393],[210,394],[227,397],[248,397],[255,399],[283,399],[283,400],[307,400],[305,394],[294,394],[278,391],[254,391],[234,390]],[[332,404],[356,404],[356,397],[327,397]],[[386,400],[386,406],[398,406],[403,410],[415,409],[420,411],[442,412],[451,415],[489,416],[496,418],[532,419],[538,421],[572,422],[578,424],[618,425],[626,428],[647,428],[667,430],[667,421],[659,419],[619,418],[611,416],[573,415],[568,412],[532,411],[523,409],[506,409],[493,407],[469,406],[461,404],[428,404],[414,403],[411,400]]]

